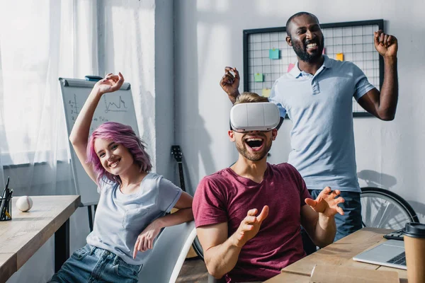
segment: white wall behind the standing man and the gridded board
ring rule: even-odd
[[[298,11],[314,13],[321,23],[383,18],[386,32],[399,40],[399,103],[392,122],[354,120],[359,181],[401,195],[425,221],[424,1],[176,0],[174,8],[176,141],[192,190],[237,159],[227,139],[231,104],[219,81],[225,66],[244,76],[242,30],[284,26]],[[280,129],[272,163],[287,161],[290,127],[287,120]]]

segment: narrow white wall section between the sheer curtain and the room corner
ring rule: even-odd
[[[100,73],[121,71],[131,83],[152,171],[172,179],[174,168],[168,161],[174,139],[173,4],[105,0],[98,7]]]

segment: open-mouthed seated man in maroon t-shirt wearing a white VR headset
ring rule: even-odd
[[[339,190],[326,187],[312,200],[293,166],[266,162],[279,121],[275,104],[242,93],[231,110],[228,132],[239,158],[203,178],[196,189],[193,214],[205,264],[212,276],[226,275],[227,282],[278,275],[305,256],[301,224],[323,247],[334,240],[334,215],[344,214]]]

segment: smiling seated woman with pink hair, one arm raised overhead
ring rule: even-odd
[[[101,197],[87,245],[73,253],[50,282],[138,282],[161,229],[193,220],[191,195],[150,172],[145,144],[131,127],[106,122],[89,138],[101,96],[118,91],[123,83],[120,73],[98,81],[69,136]],[[173,207],[179,210],[166,214]]]

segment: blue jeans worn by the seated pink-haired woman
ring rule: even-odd
[[[108,250],[87,244],[75,251],[50,282],[137,283],[141,265],[130,265]]]

